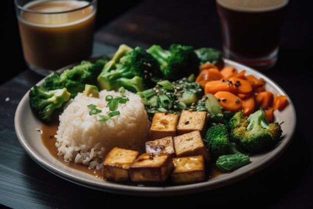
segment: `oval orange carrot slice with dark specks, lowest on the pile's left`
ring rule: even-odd
[[[219,99],[220,106],[226,111],[239,111],[241,109],[241,99],[228,91],[218,91],[214,96]]]

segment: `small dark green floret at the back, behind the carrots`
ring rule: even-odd
[[[194,50],[195,54],[200,59],[200,65],[204,63],[216,64],[221,61],[222,52],[213,48],[203,47]]]

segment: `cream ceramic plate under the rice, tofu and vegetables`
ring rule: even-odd
[[[128,195],[157,196],[187,194],[229,185],[262,170],[276,160],[286,150],[291,143],[295,132],[296,115],[294,106],[289,96],[274,81],[262,73],[234,61],[224,59],[224,64],[225,66],[233,66],[238,71],[245,70],[245,75],[252,74],[257,78],[263,78],[266,81],[265,88],[268,91],[271,91],[274,94],[277,93],[278,95],[286,95],[289,103],[282,111],[276,110],[274,112],[275,119],[278,123],[281,123],[283,131],[283,139],[277,147],[266,153],[251,156],[250,164],[245,165],[231,173],[225,173],[200,183],[159,187],[134,186],[109,182],[75,170],[62,164],[55,157],[51,156],[47,148],[42,144],[40,133],[36,131],[36,129],[40,128],[41,123],[34,117],[30,110],[28,104],[28,92],[23,96],[16,109],[14,118],[16,135],[27,154],[43,168],[68,181],[97,190]],[[36,85],[42,85],[43,81],[44,79],[39,81]]]

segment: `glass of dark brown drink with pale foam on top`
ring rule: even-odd
[[[288,0],[216,0],[223,56],[264,71],[277,62]]]

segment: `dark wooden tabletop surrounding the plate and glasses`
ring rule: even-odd
[[[310,0],[290,1],[278,63],[264,72],[290,96],[297,115],[291,145],[265,169],[214,190],[158,197],[113,194],[64,180],[34,162],[16,137],[16,107],[27,90],[42,79],[21,68],[16,69],[20,73],[0,86],[0,204],[11,208],[92,208],[99,205],[179,208],[186,204],[207,208],[312,208],[311,6]],[[167,47],[171,43],[221,49],[214,1],[143,1],[99,27],[93,55],[114,52],[120,44]],[[12,54],[5,48],[2,51]],[[2,67],[1,72],[5,69]]]

